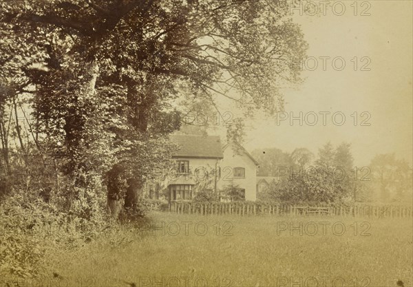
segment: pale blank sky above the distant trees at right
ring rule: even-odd
[[[328,141],[350,142],[359,167],[377,153],[396,153],[412,164],[413,2],[357,1],[357,12],[354,1],[335,2],[325,15],[295,12],[309,44],[305,81],[284,90],[286,114],[279,114],[278,123],[260,116],[246,122],[244,147],[306,147],[317,156]],[[313,3],[321,9],[321,2]],[[300,112],[302,126],[290,123]]]

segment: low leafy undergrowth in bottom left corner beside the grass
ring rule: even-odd
[[[0,276],[34,277],[47,250],[73,249],[97,237],[107,220],[89,221],[58,211],[53,204],[25,195],[0,205]],[[44,262],[43,262],[44,263]]]

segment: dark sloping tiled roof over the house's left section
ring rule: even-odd
[[[224,158],[219,136],[176,134],[170,138],[180,146],[180,150],[173,153],[174,158]]]

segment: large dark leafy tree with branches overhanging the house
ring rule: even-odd
[[[282,109],[279,87],[301,80],[299,67],[280,59],[302,59],[307,47],[285,4],[10,1],[0,12],[0,49],[17,63],[12,72],[36,85],[34,115],[75,185],[89,185],[89,171],[111,170],[109,178],[126,180],[125,205],[134,206],[168,156],[179,96],[218,111],[232,100],[246,115]]]

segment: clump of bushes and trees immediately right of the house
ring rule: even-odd
[[[262,160],[263,170],[259,174],[276,176],[279,182],[271,183],[268,191],[258,194],[261,200],[319,203],[357,200],[362,187],[354,174],[348,143],[334,149],[328,142],[319,149],[315,167],[309,165],[313,153],[308,149],[295,149],[290,155],[279,149],[269,149],[268,156],[266,153],[255,151]]]

